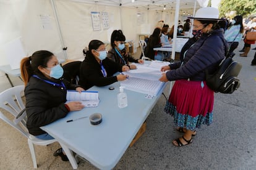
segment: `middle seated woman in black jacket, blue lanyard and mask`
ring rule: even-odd
[[[95,39],[89,43],[89,50],[80,66],[79,77],[79,84],[85,89],[92,86],[107,86],[128,77],[122,74],[113,76],[117,71],[129,71],[129,67],[120,65],[106,56],[107,52],[103,42]]]

